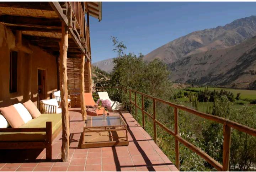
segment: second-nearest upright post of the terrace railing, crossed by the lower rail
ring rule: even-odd
[[[179,135],[177,108],[174,108],[174,133],[175,135]],[[177,139],[175,139],[175,163],[176,163],[176,168],[180,170],[180,145]]]

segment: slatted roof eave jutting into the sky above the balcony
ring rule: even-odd
[[[102,18],[102,2],[85,2],[85,10],[89,15],[101,21]]]

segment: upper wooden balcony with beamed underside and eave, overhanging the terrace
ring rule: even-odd
[[[24,43],[56,57],[64,22],[69,31],[68,57],[85,54],[91,60],[89,16],[101,20],[101,2],[0,2],[0,14],[0,23],[20,32]]]

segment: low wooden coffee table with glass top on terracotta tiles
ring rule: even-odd
[[[121,115],[87,116],[81,148],[129,145],[127,124]]]

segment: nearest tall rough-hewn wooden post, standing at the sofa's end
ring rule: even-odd
[[[69,112],[68,112],[68,27],[62,22],[60,41],[60,98],[62,107],[62,161],[69,161]]]

